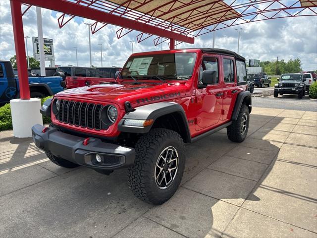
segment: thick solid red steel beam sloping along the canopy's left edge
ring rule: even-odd
[[[184,36],[172,31],[167,31],[149,24],[131,20],[129,18],[121,17],[118,15],[110,14],[104,11],[100,11],[91,7],[86,7],[76,3],[72,3],[64,0],[20,0],[23,3],[39,6],[54,11],[64,12],[66,14],[76,15],[91,20],[100,22],[106,22],[108,24],[121,26],[136,31],[145,32],[165,38],[172,38],[177,41],[183,41],[193,44],[194,38]]]

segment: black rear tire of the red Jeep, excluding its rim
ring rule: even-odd
[[[244,132],[241,132],[241,125],[243,123],[243,117],[246,116],[246,128]],[[242,104],[240,108],[240,112],[238,115],[237,120],[232,121],[232,124],[227,127],[227,136],[229,140],[233,142],[242,142],[245,140],[248,134],[249,129],[249,121],[250,121],[250,114],[247,105]]]

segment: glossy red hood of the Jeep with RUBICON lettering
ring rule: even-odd
[[[98,84],[73,88],[59,92],[57,97],[95,102],[116,102],[123,107],[124,102],[144,105],[150,102],[172,100],[188,95],[191,82],[163,84]]]

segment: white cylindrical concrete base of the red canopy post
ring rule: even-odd
[[[13,135],[18,138],[32,137],[31,128],[35,124],[43,125],[40,113],[41,99],[10,100]]]

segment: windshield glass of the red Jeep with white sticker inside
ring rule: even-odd
[[[122,68],[122,78],[189,79],[196,53],[153,54],[130,57]]]

